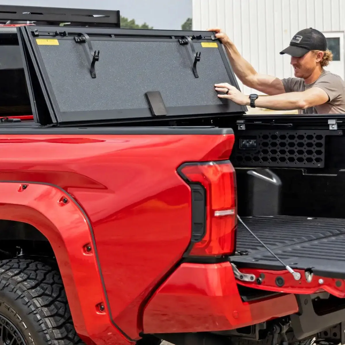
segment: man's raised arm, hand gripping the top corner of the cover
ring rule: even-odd
[[[216,32],[216,37],[224,45],[234,73],[245,86],[267,95],[285,93],[283,82],[279,78],[257,73],[253,66],[240,55],[234,43],[224,32],[221,32],[219,28],[208,29],[208,31]]]

